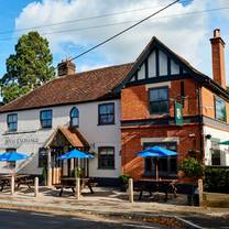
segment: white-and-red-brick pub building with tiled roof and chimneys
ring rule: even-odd
[[[26,152],[19,173],[41,175],[48,185],[76,166],[100,184],[121,174],[155,176],[155,160],[137,152],[159,145],[177,152],[160,159],[159,176],[176,177],[192,155],[206,165],[229,166],[229,94],[225,42],[214,31],[212,79],[153,37],[134,63],[76,73],[68,61],[58,77],[0,108],[0,150]],[[128,51],[127,51],[128,52]],[[58,161],[70,149],[94,154],[89,161]],[[1,173],[7,173],[1,163]]]

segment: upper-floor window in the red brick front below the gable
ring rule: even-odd
[[[150,113],[163,115],[168,113],[168,88],[150,89]]]

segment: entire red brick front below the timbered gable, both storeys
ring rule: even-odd
[[[173,80],[167,84],[170,90],[170,115],[151,116],[149,112],[149,88],[151,85],[131,86],[121,91],[121,121],[134,121],[159,118],[174,118],[174,98],[181,99],[181,83],[184,84],[184,117],[199,115],[198,84],[194,79]],[[156,87],[156,84],[152,85]],[[160,84],[159,84],[160,87]],[[141,140],[152,139],[176,139],[177,163],[188,156],[188,152],[196,152],[200,159],[201,151],[201,126],[189,123],[177,127],[175,124],[160,126],[132,126],[121,128],[121,157],[122,173],[133,178],[144,176],[144,159],[137,156],[137,152],[143,150]],[[151,141],[151,140],[149,140]]]

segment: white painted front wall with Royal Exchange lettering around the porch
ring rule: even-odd
[[[98,170],[98,156],[89,161],[89,175],[97,177],[118,177],[120,175],[121,157],[120,157],[120,101],[109,100],[115,102],[116,124],[98,126],[98,105],[101,102],[87,102],[72,106],[48,107],[45,109],[53,110],[53,128],[41,129],[40,111],[44,109],[33,109],[18,111],[18,131],[8,133],[7,115],[0,113],[0,151],[6,151],[7,148],[17,148],[18,152],[34,153],[31,162],[22,172],[30,174],[41,174],[42,168],[39,168],[39,148],[42,148],[54,130],[58,126],[69,124],[69,112],[73,107],[79,110],[79,128],[78,131],[84,135],[90,145],[95,145],[96,153],[99,146],[115,146],[116,170]],[[34,142],[17,142],[18,140],[32,139]],[[6,163],[4,163],[6,164]],[[0,173],[9,172],[0,162]]]

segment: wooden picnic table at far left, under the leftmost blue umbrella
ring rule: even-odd
[[[14,176],[15,176],[17,188],[19,188],[20,185],[22,184],[28,185],[29,188],[31,188],[31,185],[33,185],[33,179],[30,178],[30,175],[15,174]],[[12,178],[12,175],[9,175],[9,174],[0,175],[0,192],[2,192],[4,187],[11,185],[11,178]]]

